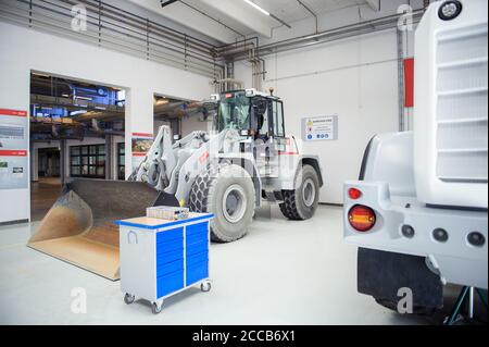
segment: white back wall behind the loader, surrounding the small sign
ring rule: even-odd
[[[338,114],[339,139],[304,142],[303,151],[319,156],[321,202],[342,203],[342,183],[358,178],[368,140],[398,131],[396,30],[268,55],[266,65],[264,89],[283,98],[288,134],[301,137],[302,117]],[[235,74],[251,87],[248,63]]]

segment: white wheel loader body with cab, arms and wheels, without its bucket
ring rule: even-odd
[[[129,179],[163,191],[168,205],[214,213],[215,241],[244,236],[262,199],[279,201],[288,219],[313,216],[323,186],[319,161],[300,154],[285,135],[279,98],[254,89],[224,92],[204,109],[214,120],[211,134],[196,132],[172,145],[170,128],[161,127]]]

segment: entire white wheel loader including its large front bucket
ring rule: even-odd
[[[212,212],[212,239],[221,243],[243,237],[263,200],[278,201],[290,220],[314,215],[319,161],[286,136],[279,98],[254,89],[213,95],[204,115],[213,119],[211,133],[193,132],[175,144],[162,126],[130,182],[67,183],[28,246],[117,280],[113,221],[143,215],[147,207]]]

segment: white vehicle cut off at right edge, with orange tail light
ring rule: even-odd
[[[358,290],[396,309],[443,303],[443,285],[488,287],[488,2],[437,1],[415,36],[414,132],[376,136],[344,184]]]

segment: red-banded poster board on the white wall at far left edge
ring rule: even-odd
[[[0,109],[0,189],[28,187],[27,112]]]

